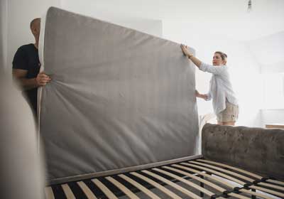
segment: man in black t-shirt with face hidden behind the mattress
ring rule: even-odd
[[[50,77],[40,71],[38,58],[38,40],[40,36],[40,18],[34,18],[30,24],[35,43],[22,45],[13,58],[13,77],[20,83],[23,93],[36,116],[38,105],[38,87],[50,82]]]

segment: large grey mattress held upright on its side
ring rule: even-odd
[[[197,154],[195,67],[178,43],[51,7],[43,55],[49,180]]]

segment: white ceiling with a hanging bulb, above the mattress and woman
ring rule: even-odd
[[[65,5],[70,1],[61,2]],[[108,11],[119,16],[172,21],[178,23],[178,27],[206,29],[238,41],[250,41],[284,31],[284,0],[252,0],[250,12],[247,10],[248,1],[84,0],[80,1],[80,6],[89,11]]]

